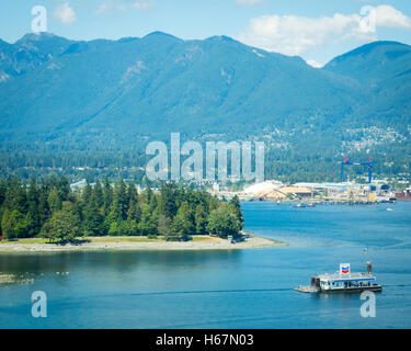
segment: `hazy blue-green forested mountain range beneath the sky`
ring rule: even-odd
[[[0,41],[0,144],[9,155],[12,145],[122,150],[171,132],[259,138],[274,154],[301,157],[379,148],[390,160],[398,147],[410,150],[411,46],[397,42],[313,68],[227,36],[81,42],[42,33]]]

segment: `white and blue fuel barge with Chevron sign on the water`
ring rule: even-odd
[[[367,261],[366,272],[351,272],[350,263],[340,263],[340,272],[311,276],[311,284],[295,288],[301,293],[362,293],[364,291],[381,292],[383,285],[372,273],[372,262]]]

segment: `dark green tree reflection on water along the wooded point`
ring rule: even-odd
[[[139,270],[171,272],[201,269],[205,265],[231,264],[241,260],[241,251],[104,251],[0,254],[1,272],[19,278],[58,275],[58,281],[72,271],[130,273]]]

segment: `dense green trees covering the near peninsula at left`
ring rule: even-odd
[[[238,197],[219,201],[205,191],[161,183],[137,192],[134,182],[107,178],[71,190],[67,178],[0,181],[1,235],[7,239],[46,237],[50,241],[84,236],[164,236],[187,240],[192,235],[237,237],[243,228]]]

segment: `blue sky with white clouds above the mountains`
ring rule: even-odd
[[[315,67],[377,39],[411,45],[410,0],[2,0],[0,38],[32,32],[35,7],[42,27],[70,39],[227,35]]]

